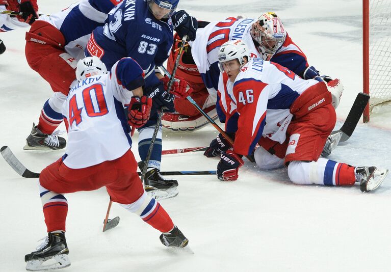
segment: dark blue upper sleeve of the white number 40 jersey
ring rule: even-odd
[[[143,69],[132,58],[119,60],[115,74],[121,85],[129,91],[145,85]]]

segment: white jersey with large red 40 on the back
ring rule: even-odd
[[[129,90],[144,85],[143,70],[132,58],[119,60],[108,74],[88,77],[69,91],[62,114],[68,131],[64,164],[73,169],[114,160],[131,148],[123,107]]]

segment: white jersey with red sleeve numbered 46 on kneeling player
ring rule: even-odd
[[[291,105],[318,83],[314,79],[304,80],[277,63],[259,58],[250,60],[234,83],[227,82],[228,95],[240,115],[234,151],[251,154],[261,136],[283,143],[293,117]]]

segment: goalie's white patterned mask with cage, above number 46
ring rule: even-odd
[[[286,32],[281,19],[274,12],[267,12],[259,16],[252,24],[251,37],[256,41],[263,55],[273,56],[285,41]]]

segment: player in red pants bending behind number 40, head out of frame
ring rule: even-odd
[[[49,84],[54,94],[43,105],[37,126],[33,124],[23,149],[63,149],[66,140],[53,132],[61,124],[61,107],[70,85],[77,82],[77,60],[91,32],[103,25],[114,7],[110,0],[83,0],[50,16],[41,15],[26,34],[25,55],[30,67]]]

